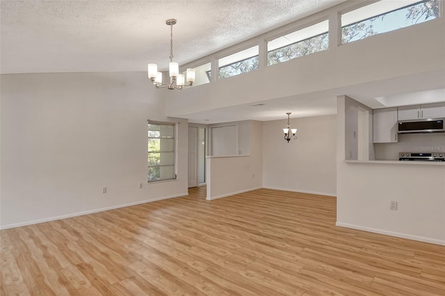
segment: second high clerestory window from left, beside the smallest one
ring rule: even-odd
[[[258,69],[259,47],[254,46],[218,60],[218,79],[236,76]]]

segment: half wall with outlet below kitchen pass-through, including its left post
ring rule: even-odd
[[[345,110],[351,105],[338,97],[337,225],[445,245],[445,165],[346,162]],[[389,210],[391,201],[398,202],[397,211]]]

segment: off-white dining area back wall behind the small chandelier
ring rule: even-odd
[[[263,122],[263,186],[336,195],[336,115],[291,119],[298,138],[289,143],[286,121]]]

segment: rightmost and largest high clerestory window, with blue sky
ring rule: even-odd
[[[341,15],[341,44],[420,24],[440,15],[439,0],[382,0]]]

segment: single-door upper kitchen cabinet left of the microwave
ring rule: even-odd
[[[373,110],[373,142],[394,143],[397,141],[397,108]]]

